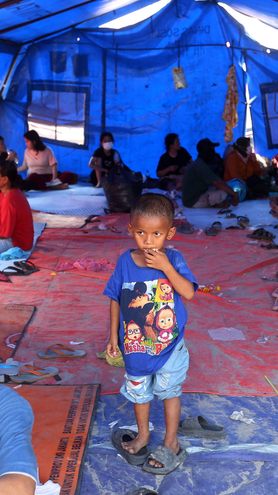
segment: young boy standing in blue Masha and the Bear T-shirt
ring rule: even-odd
[[[164,402],[164,443],[146,455],[143,465],[155,474],[169,473],[187,457],[177,438],[189,360],[183,338],[187,311],[181,296],[192,299],[198,284],[183,255],[164,247],[176,231],[174,214],[172,201],[161,194],[147,193],[135,201],[128,229],[138,248],[120,256],[103,293],[111,298],[107,354],[115,357],[119,345],[126,368],[121,394],[134,403],[138,424],[138,435],[121,442],[128,462],[139,464],[133,456],[149,443],[150,400],[156,395]],[[166,286],[172,289],[167,302]]]

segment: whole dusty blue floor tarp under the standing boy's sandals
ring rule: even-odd
[[[274,494],[278,453],[250,450],[228,450],[190,453],[182,467],[167,476],[153,476],[141,467],[128,464],[110,444],[112,430],[108,424],[119,420],[114,427],[136,423],[133,404],[119,394],[100,396],[93,426],[92,438],[85,462],[80,495],[126,494],[136,486],[148,486],[159,495],[258,495]],[[182,394],[182,418],[203,415],[209,422],[224,426],[227,437],[220,441],[179,436],[186,448],[219,448],[242,444],[278,446],[278,418],[276,398],[263,396],[216,396],[209,394]],[[234,410],[243,410],[244,416],[255,424],[230,419]],[[164,437],[163,403],[151,403],[150,421],[154,431],[150,448],[162,444]],[[240,444],[240,445],[239,445]],[[249,461],[249,462],[248,462]]]

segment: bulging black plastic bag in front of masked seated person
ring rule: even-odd
[[[132,172],[126,165],[115,165],[101,178],[101,184],[113,213],[129,212],[143,189],[141,172]]]

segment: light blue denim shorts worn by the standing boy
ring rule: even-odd
[[[126,373],[120,393],[138,404],[149,402],[154,396],[159,400],[178,397],[182,394],[188,364],[189,354],[182,339],[168,361],[154,375],[133,376]]]

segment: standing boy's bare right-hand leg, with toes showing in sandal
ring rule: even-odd
[[[166,435],[163,445],[170,448],[177,454],[179,452],[178,443],[178,426],[181,417],[181,400],[180,397],[173,397],[172,399],[164,399],[164,417],[166,426]],[[150,460],[149,464],[155,467],[163,467],[164,465],[157,462],[155,459]]]

